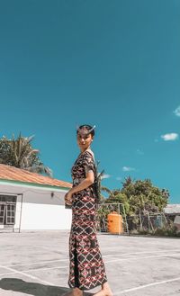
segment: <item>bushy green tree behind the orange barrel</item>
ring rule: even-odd
[[[166,207],[169,197],[168,190],[154,186],[149,179],[135,181],[128,177],[122,183],[121,189],[109,190],[104,187],[104,190],[109,196],[103,200],[103,206],[105,207],[105,203],[121,203],[123,205],[123,207],[120,207],[121,215],[128,220],[129,229],[139,227],[140,217],[142,216],[146,217],[144,223],[150,223],[148,213],[162,212]],[[107,211],[114,211],[111,207],[115,211],[119,209],[116,205],[110,205],[106,208]],[[106,221],[106,215],[108,213],[104,209],[101,207],[98,211],[99,220],[103,224]]]

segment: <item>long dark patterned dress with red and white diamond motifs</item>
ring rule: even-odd
[[[81,153],[71,169],[73,186],[94,170],[94,154],[90,149]],[[96,202],[93,185],[73,194],[72,225],[69,236],[70,288],[83,291],[107,282],[103,258],[96,238]]]

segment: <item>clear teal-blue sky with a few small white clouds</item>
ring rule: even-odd
[[[71,181],[76,125],[95,124],[103,185],[150,178],[180,202],[180,1],[0,2],[0,136],[35,135]]]

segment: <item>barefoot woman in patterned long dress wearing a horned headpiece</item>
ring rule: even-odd
[[[96,199],[93,184],[96,170],[94,153],[90,148],[94,128],[81,125],[76,130],[81,153],[71,170],[73,187],[65,195],[66,204],[72,204],[68,285],[73,290],[67,296],[82,296],[83,291],[98,285],[102,289],[94,296],[112,296],[95,234]]]

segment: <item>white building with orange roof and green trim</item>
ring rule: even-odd
[[[0,164],[0,229],[70,229],[72,184]]]

